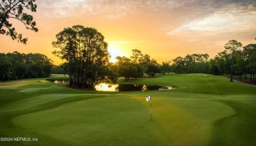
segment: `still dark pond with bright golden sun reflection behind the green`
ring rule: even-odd
[[[146,91],[146,90],[171,90],[173,86],[152,85],[152,84],[98,84],[95,86],[97,91]]]

